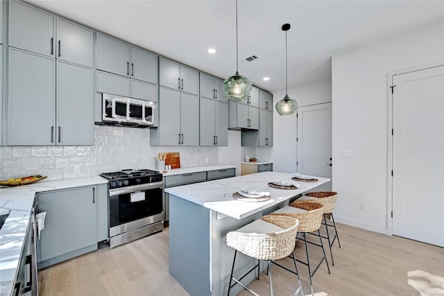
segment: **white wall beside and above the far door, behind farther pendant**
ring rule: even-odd
[[[332,81],[330,78],[288,90],[288,95],[307,106],[332,101]],[[285,96],[285,89],[273,92],[273,108]],[[296,114],[280,116],[273,109],[273,148],[257,147],[257,159],[273,162],[273,171],[282,173],[296,172]]]

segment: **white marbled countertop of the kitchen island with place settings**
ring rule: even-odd
[[[176,195],[178,198],[200,204],[220,214],[241,220],[274,204],[278,204],[296,195],[305,193],[310,189],[314,189],[321,184],[330,182],[330,179],[324,177],[317,177],[318,182],[295,182],[291,180],[291,177],[293,177],[293,174],[262,172],[171,187],[165,189],[165,192],[170,195]],[[300,187],[293,190],[275,189],[268,186],[268,182],[271,181],[293,182]],[[264,202],[243,202],[235,200],[232,194],[244,188],[244,186],[248,186],[248,189],[268,191],[271,199]]]

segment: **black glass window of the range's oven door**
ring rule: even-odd
[[[131,202],[131,193],[110,196],[110,227],[162,213],[162,189],[143,191],[144,200]]]

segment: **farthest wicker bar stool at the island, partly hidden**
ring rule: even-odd
[[[324,206],[324,217],[322,224],[325,225],[325,232],[327,232],[327,236],[323,236],[323,238],[327,238],[328,240],[328,247],[330,247],[330,256],[332,256],[332,265],[334,265],[332,246],[336,238],[338,239],[339,247],[341,247],[338,230],[336,229],[336,223],[334,223],[334,217],[333,217],[333,211],[334,207],[336,207],[336,199],[338,198],[338,193],[333,191],[318,191],[318,192],[305,193],[305,196],[308,196],[309,199],[302,198],[300,200],[318,202],[320,204],[323,204]],[[332,217],[333,224],[327,223],[327,215],[330,215]],[[329,226],[334,228],[334,236],[333,238],[331,238],[331,240],[330,240],[330,233],[328,232]]]

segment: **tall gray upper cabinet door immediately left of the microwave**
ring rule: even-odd
[[[57,129],[59,145],[92,145],[92,69],[57,62]]]

